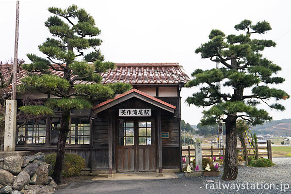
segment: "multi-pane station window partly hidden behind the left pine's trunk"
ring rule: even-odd
[[[58,144],[60,134],[60,118],[51,119],[50,144]],[[90,119],[89,117],[70,118],[69,133],[66,144],[90,144]]]

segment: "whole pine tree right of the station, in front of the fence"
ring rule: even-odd
[[[272,40],[252,39],[251,34],[264,34],[271,30],[268,22],[262,21],[252,24],[250,20],[243,20],[234,26],[237,31],[245,33],[225,35],[220,30],[212,30],[209,42],[202,44],[195,50],[203,59],[209,58],[212,62],[219,62],[223,67],[219,69],[196,69],[193,80],[187,87],[200,86],[200,92],[188,97],[186,102],[198,107],[210,107],[204,111],[202,124],[214,124],[222,120],[226,124],[226,153],[225,167],[222,179],[236,179],[237,139],[236,120],[241,118],[252,125],[271,120],[268,112],[256,108],[259,103],[267,104],[271,109],[283,111],[285,107],[277,101],[287,99],[289,95],[280,89],[271,88],[269,84],[279,84],[284,81],[275,77],[281,67],[264,58],[261,52],[266,47],[275,47]],[[213,64],[212,64],[213,65]],[[220,92],[216,82],[221,81],[227,91]],[[246,89],[251,89],[248,94]],[[275,103],[269,100],[275,99]],[[221,115],[226,115],[223,118]]]

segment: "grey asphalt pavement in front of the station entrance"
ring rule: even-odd
[[[157,180],[84,180],[57,190],[54,194],[208,194],[200,178]]]

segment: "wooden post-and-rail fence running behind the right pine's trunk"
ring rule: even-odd
[[[259,149],[267,149],[267,153],[266,154],[262,154],[259,153]],[[217,150],[222,150],[222,155],[221,154],[213,154],[213,151],[217,151]],[[242,147],[237,147],[237,150],[242,150]],[[256,154],[248,154],[247,150],[256,150]],[[188,156],[188,162],[190,163],[190,158],[191,157],[195,157],[195,155],[191,155],[191,151],[195,151],[194,148],[190,148],[190,146],[188,146],[187,149],[182,149],[182,153],[183,151],[188,151],[188,155],[183,155],[182,154],[182,158],[186,158],[186,156]],[[225,156],[225,146],[222,146],[222,148],[213,148],[213,146],[211,146],[211,148],[202,148],[202,151],[210,151],[211,154],[210,155],[203,155],[202,153],[202,157],[211,157],[211,159],[213,160],[213,157],[223,157]],[[238,156],[244,156],[245,158],[248,158],[248,156],[256,156],[256,158],[259,158],[259,156],[268,156],[268,159],[272,161],[272,143],[271,140],[267,140],[267,146],[265,147],[259,147],[258,145],[256,147],[246,147],[244,150],[245,154],[238,154]],[[248,160],[245,160],[246,165],[248,164]]]

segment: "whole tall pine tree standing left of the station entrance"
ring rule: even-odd
[[[98,73],[113,69],[114,63],[104,62],[104,56],[97,48],[102,40],[96,38],[100,30],[95,26],[92,16],[76,5],[71,5],[67,9],[50,7],[48,10],[53,16],[48,18],[45,26],[49,28],[53,37],[47,38],[38,46],[47,58],[35,54],[27,55],[32,63],[22,67],[31,74],[22,80],[18,89],[21,92],[37,90],[48,96],[59,97],[49,98],[44,106],[22,106],[20,110],[25,114],[34,115],[53,115],[54,110],[60,111],[60,133],[53,172],[54,180],[60,184],[70,110],[91,108],[91,101],[114,97],[115,94],[131,89],[131,85],[100,83],[102,77]],[[58,71],[62,77],[51,75],[51,69]],[[89,81],[91,84],[74,84],[80,80]]]

